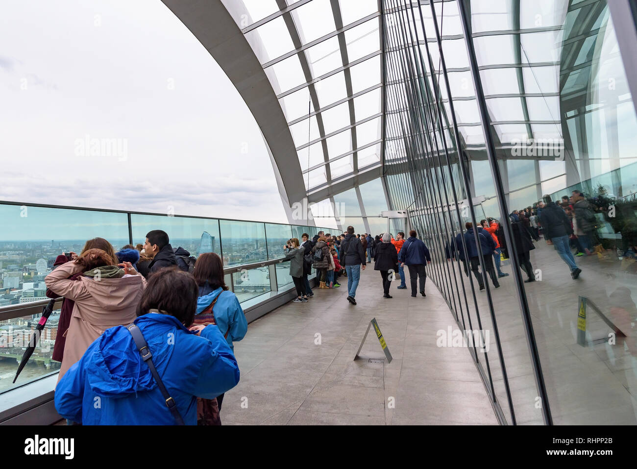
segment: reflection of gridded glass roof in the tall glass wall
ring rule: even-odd
[[[397,1],[396,4],[406,3]],[[417,0],[412,3],[416,4]],[[420,9],[415,6],[413,9],[385,11],[387,36],[392,37],[394,34],[394,39],[390,41],[390,45],[394,45],[396,34],[401,34],[405,29],[408,31],[399,42],[406,42],[408,46],[417,43],[425,61],[429,90],[433,90],[433,75],[438,82],[448,120],[451,120],[431,7],[428,1],[423,0],[420,0],[420,5]],[[565,25],[568,24],[565,21],[568,5],[568,0],[519,0],[519,8],[514,8],[517,2],[510,0],[471,0],[473,45],[489,112],[489,124],[492,134],[496,136],[497,148],[510,145],[515,140],[562,137],[559,124],[559,64],[564,29],[568,27]],[[439,1],[434,8],[459,134],[466,147],[480,150],[484,148],[484,137],[479,125],[480,113],[462,37],[457,0]],[[427,58],[426,41],[433,66]],[[390,113],[408,106],[404,102],[403,71],[392,63],[404,61],[404,55],[413,54],[413,50],[412,47],[389,47],[388,51],[385,57],[388,61],[387,80],[388,83],[396,83],[387,85],[387,138],[390,138],[392,134],[399,136],[402,133],[399,121],[390,125]],[[582,61],[588,59],[586,54],[586,48],[583,47],[580,51]],[[413,55],[410,60],[414,60]]]

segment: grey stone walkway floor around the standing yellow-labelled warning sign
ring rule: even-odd
[[[234,344],[241,380],[225,394],[223,424],[497,424],[468,349],[436,345],[437,331],[457,328],[436,286],[412,298],[394,282],[385,299],[380,273],[361,274],[356,306],[342,277],[248,326]],[[391,363],[373,329],[354,360],[373,317]]]

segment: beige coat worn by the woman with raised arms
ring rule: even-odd
[[[80,271],[82,268],[71,261],[57,267],[45,278],[48,289],[75,301],[71,324],[66,331],[58,382],[106,329],[134,321],[137,305],[147,285],[141,274],[124,278],[97,280],[80,277],[69,280],[71,275]]]

